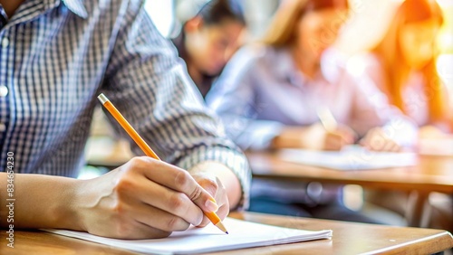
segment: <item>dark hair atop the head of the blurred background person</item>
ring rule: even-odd
[[[243,6],[237,0],[211,0],[198,11],[204,24],[221,24],[225,20],[234,20],[246,24]]]

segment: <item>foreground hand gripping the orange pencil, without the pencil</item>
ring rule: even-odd
[[[217,210],[213,197],[186,170],[147,156],[86,180],[78,190],[74,203],[82,229],[105,237],[167,237],[200,225],[201,210]]]

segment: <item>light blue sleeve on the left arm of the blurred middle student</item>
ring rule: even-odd
[[[226,133],[243,149],[264,149],[280,134],[283,124],[256,119],[260,102],[255,93],[256,51],[246,46],[236,52],[207,94],[207,105],[222,118]]]

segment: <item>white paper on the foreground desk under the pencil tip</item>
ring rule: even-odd
[[[267,246],[329,239],[333,231],[304,231],[275,227],[254,222],[226,218],[224,224],[229,234],[219,231],[214,225],[206,228],[191,228],[188,231],[173,232],[169,238],[155,240],[118,240],[104,238],[81,231],[43,230],[86,241],[99,242],[122,249],[154,254],[190,254],[235,250],[242,248]]]

